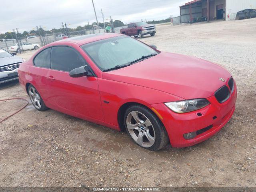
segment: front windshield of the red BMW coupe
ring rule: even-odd
[[[127,36],[118,36],[84,44],[81,48],[102,71],[118,69],[134,61],[158,54],[154,49]]]

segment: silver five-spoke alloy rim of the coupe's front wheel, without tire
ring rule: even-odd
[[[156,134],[150,120],[141,112],[132,111],[126,117],[126,126],[130,136],[140,146],[148,148],[154,145]]]

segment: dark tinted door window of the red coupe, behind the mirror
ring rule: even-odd
[[[74,49],[65,46],[52,47],[52,69],[70,72],[71,70],[84,65],[86,65],[85,60]]]

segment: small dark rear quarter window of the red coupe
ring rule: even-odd
[[[51,48],[47,48],[40,52],[34,58],[34,65],[37,67],[50,68],[50,52]]]

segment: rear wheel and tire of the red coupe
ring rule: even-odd
[[[28,86],[28,96],[37,110],[44,111],[48,109],[48,107],[46,107],[46,105],[44,104],[42,97],[40,96],[36,88],[32,85]]]

